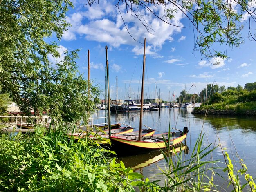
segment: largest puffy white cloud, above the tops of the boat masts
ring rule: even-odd
[[[81,4],[83,5],[84,2],[81,2]],[[154,5],[150,5],[150,9],[156,11],[157,16],[163,18],[164,6],[155,7]],[[100,5],[93,4],[92,7],[86,6],[85,11],[74,13],[68,17],[68,21],[70,21],[72,27],[69,29],[69,32],[65,33],[63,38],[65,40],[74,40],[75,35],[79,34],[86,40],[104,42],[109,46],[119,47],[120,45],[136,46],[138,43],[135,40],[143,44],[143,38],[141,37],[146,37],[147,45],[151,46],[149,51],[150,56],[159,57],[155,52],[161,50],[162,45],[166,41],[173,41],[173,34],[180,33],[182,30],[182,28],[175,27],[174,25],[184,26],[180,22],[184,17],[182,11],[175,12],[175,18],[171,20],[173,25],[168,25],[157,19],[147,10],[139,9],[137,13],[144,16],[143,21],[146,23],[146,28],[134,16],[134,13],[127,13],[125,4],[120,3],[119,10],[121,11],[121,15],[115,8],[115,4],[107,0],[102,0]],[[131,38],[126,28],[135,40]],[[185,36],[182,36],[180,39],[184,40],[185,38]],[[174,50],[175,48],[171,49],[171,51]]]

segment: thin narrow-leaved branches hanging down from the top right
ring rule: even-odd
[[[88,0],[88,5],[92,6],[97,2],[99,1]],[[216,58],[215,64],[218,64],[219,58],[227,58],[227,47],[239,47],[243,42],[241,31],[244,24],[240,22],[241,20],[249,22],[248,37],[255,40],[251,21],[256,19],[256,7],[251,1],[122,0],[117,1],[115,7],[119,9],[122,4],[125,4],[127,12],[130,11],[133,16],[137,17],[148,31],[150,26],[144,19],[148,14],[153,14],[168,25],[189,27],[189,25],[182,26],[175,22],[175,13],[179,11],[191,22],[190,26],[193,26],[194,50],[199,50],[202,57]],[[120,10],[119,12],[121,14]],[[128,26],[125,25],[125,27],[129,29]],[[225,47],[222,50],[215,50],[216,44]]]

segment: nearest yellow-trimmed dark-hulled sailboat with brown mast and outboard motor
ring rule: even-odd
[[[143,69],[142,69],[142,83],[141,83],[141,105],[143,105],[143,92],[144,92],[144,71],[145,71],[145,60],[146,60],[146,38],[144,38],[144,55],[143,55]],[[117,154],[139,154],[146,153],[153,150],[159,150],[166,147],[175,146],[184,139],[186,139],[187,132],[189,129],[184,127],[183,132],[168,132],[162,134],[156,134],[151,136],[142,135],[142,115],[143,109],[140,110],[139,119],[139,134],[138,136],[110,136],[112,143],[112,150]],[[168,145],[168,146],[167,146]]]

